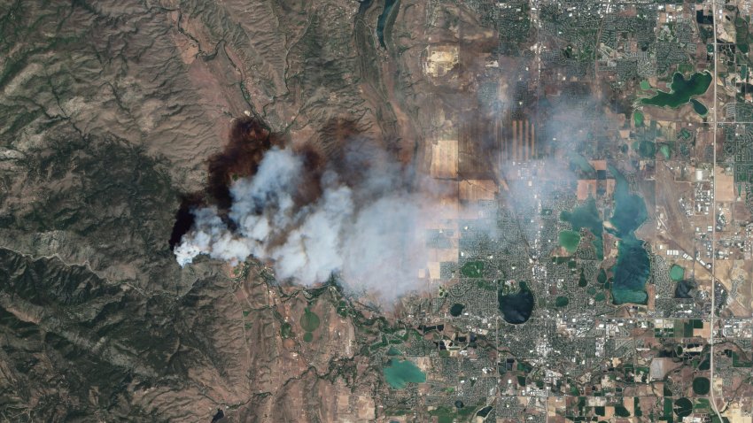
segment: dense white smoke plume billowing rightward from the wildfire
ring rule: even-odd
[[[332,273],[353,291],[390,300],[419,288],[426,264],[422,213],[431,198],[403,187],[397,166],[365,171],[357,184],[328,169],[322,196],[297,206],[303,159],[269,150],[257,173],[230,188],[230,230],[213,207],[194,211],[195,223],[175,248],[180,265],[199,254],[237,263],[249,256],[270,262],[280,280],[311,285]],[[348,181],[351,182],[351,181]]]

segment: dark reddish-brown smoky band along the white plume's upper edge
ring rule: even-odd
[[[258,117],[235,119],[225,148],[207,160],[206,188],[181,198],[170,235],[171,249],[180,244],[182,236],[194,225],[192,211],[198,207],[213,205],[229,230],[236,230],[235,222],[229,219],[233,204],[230,188],[234,181],[255,175],[270,149],[291,148],[303,161],[301,180],[293,198],[297,207],[313,204],[322,196],[325,169],[335,170],[340,182],[353,188],[375,168],[384,171],[390,168],[389,153],[378,145],[378,139],[364,135],[367,132],[355,119],[332,118],[322,125],[313,140],[294,143],[273,132]]]

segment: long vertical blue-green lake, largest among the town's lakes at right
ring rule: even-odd
[[[645,286],[651,266],[643,241],[635,236],[635,230],[648,218],[646,204],[639,195],[630,192],[625,176],[614,166],[609,165],[609,172],[615,176],[615,211],[609,219],[614,229],[610,233],[619,238],[612,301],[646,304]]]

